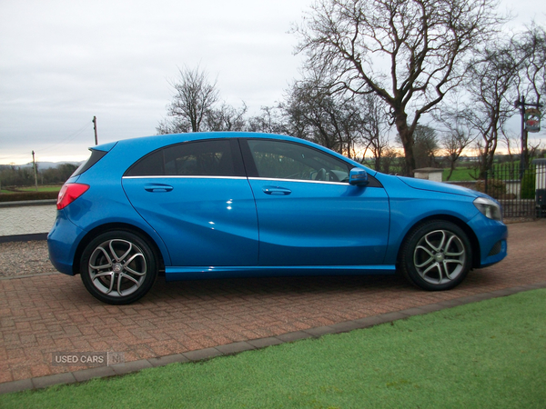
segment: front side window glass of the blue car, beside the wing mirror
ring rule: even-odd
[[[289,142],[249,140],[259,177],[347,182],[349,166],[317,149]]]

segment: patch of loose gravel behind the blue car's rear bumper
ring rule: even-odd
[[[0,277],[55,271],[45,240],[0,243]]]

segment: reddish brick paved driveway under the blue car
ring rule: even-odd
[[[87,294],[77,276],[3,279],[0,384],[85,368],[53,366],[55,352],[123,352],[131,362],[546,282],[546,220],[509,231],[506,260],[443,293],[398,276],[160,279],[136,304],[113,306]]]

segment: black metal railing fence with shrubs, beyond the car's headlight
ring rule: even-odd
[[[497,199],[504,217],[546,217],[546,159],[523,171],[520,165],[495,165],[476,189]]]

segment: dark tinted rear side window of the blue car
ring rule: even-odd
[[[237,176],[229,139],[187,142],[153,152],[127,172],[127,176]]]

